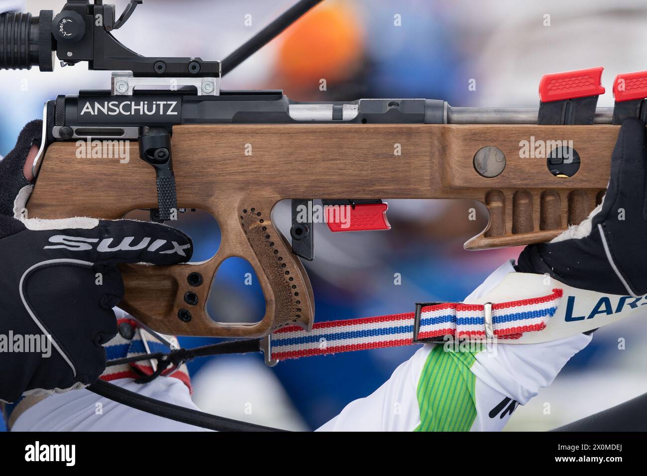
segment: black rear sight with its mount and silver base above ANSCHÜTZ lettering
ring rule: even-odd
[[[164,85],[168,78],[188,78],[184,84],[197,86],[198,94],[218,95],[221,63],[201,58],[146,57],[131,51],[118,41],[112,30],[124,26],[137,5],[131,0],[122,16],[116,19],[115,5],[102,0],[71,0],[56,16],[52,10],[41,10],[38,17],[28,13],[0,15],[0,69],[31,69],[53,71],[54,55],[62,66],[88,62],[96,71],[127,71],[128,89],[131,80],[147,78],[146,85]],[[159,78],[156,81],[155,78]],[[153,81],[150,81],[153,80]],[[142,85],[132,80],[135,85]],[[124,85],[120,84],[124,94]]]

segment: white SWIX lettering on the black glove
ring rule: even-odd
[[[49,242],[55,243],[55,245],[46,246],[44,249],[69,249],[70,251],[88,251],[93,249],[94,244],[98,243],[96,246],[96,251],[100,253],[109,253],[111,251],[137,251],[138,249],[146,248],[146,251],[158,251],[164,247],[164,251],[158,251],[160,255],[171,255],[177,253],[180,256],[186,256],[184,250],[190,248],[191,245],[179,245],[177,242],[171,241],[171,249],[168,249],[168,240],[155,240],[151,243],[152,238],[142,238],[142,240],[136,244],[131,245],[135,236],[126,236],[119,244],[113,245],[113,238],[104,238],[99,240],[99,238],[81,238],[80,236],[65,236],[62,234],[57,234],[50,236]]]

